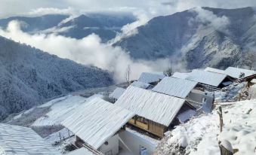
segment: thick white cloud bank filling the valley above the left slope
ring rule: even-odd
[[[125,81],[125,70],[128,65],[131,66],[131,79],[137,79],[142,71],[162,71],[170,65],[168,59],[133,60],[121,47],[103,44],[99,36],[94,34],[82,39],[66,38],[56,34],[30,35],[20,30],[18,21],[11,21],[7,29],[0,29],[0,35],[61,58],[113,71],[117,82]]]

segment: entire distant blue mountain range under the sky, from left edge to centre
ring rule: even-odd
[[[103,42],[115,38],[122,26],[133,23],[136,18],[132,14],[82,14],[72,20],[68,15],[48,14],[40,17],[9,17],[0,19],[0,27],[6,29],[12,20],[21,22],[23,32],[55,32],[72,38],[84,38],[92,33],[99,35]],[[67,20],[67,21],[66,21]]]

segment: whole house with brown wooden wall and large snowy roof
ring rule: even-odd
[[[168,129],[187,121],[196,113],[196,109],[185,99],[132,86],[125,90],[115,105],[136,114],[129,120],[129,124],[159,138]]]

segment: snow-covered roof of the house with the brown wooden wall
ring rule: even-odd
[[[140,117],[169,126],[184,102],[184,99],[174,96],[130,86],[115,105],[133,111]]]

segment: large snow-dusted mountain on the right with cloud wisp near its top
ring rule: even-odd
[[[187,68],[250,65],[256,45],[254,8],[193,8],[155,17],[115,46],[134,59],[180,58]]]

